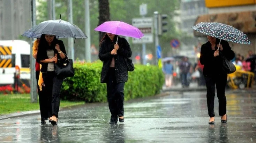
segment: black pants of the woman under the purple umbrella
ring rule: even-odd
[[[123,100],[125,98],[124,86],[125,82],[116,83],[115,69],[108,70],[107,81],[107,100],[108,107],[111,112],[111,120],[115,121],[119,117],[123,117]]]

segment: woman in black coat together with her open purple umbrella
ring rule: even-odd
[[[143,37],[143,33],[137,28],[122,21],[104,22],[94,29],[106,32],[100,41],[99,59],[103,61],[100,82],[107,83],[107,100],[111,112],[110,124],[118,121],[124,122],[123,117],[123,88],[128,80],[128,70],[132,72],[134,66],[131,60],[131,48],[124,38],[119,35],[134,38]]]

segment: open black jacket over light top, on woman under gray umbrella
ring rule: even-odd
[[[63,44],[63,41],[59,40],[58,44],[60,45],[60,50],[65,53],[66,53],[66,49],[65,49],[65,46]],[[55,43],[52,43],[51,44],[51,49],[54,50],[54,54],[57,54],[57,58],[58,58],[58,61],[60,60],[60,62],[63,62],[66,60],[66,58],[64,59],[61,59],[58,51],[55,49]],[[45,46],[49,46],[49,45],[45,45]],[[38,47],[38,51],[37,51],[37,62],[40,63],[42,65],[42,68],[40,69],[40,71],[42,73],[47,73],[47,67],[48,67],[48,63],[42,63],[41,60],[45,60],[45,59],[48,59],[48,56],[47,56],[47,48],[46,47]],[[60,62],[58,62],[57,64],[60,64]]]

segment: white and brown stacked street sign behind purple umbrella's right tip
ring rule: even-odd
[[[152,17],[133,18],[133,26],[137,27],[144,36],[141,39],[133,38],[134,44],[153,43],[153,19]]]

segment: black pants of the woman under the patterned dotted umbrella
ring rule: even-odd
[[[208,114],[210,117],[214,117],[214,96],[215,96],[215,84],[217,89],[217,96],[219,99],[219,115],[223,116],[226,114],[227,99],[225,95],[225,87],[227,84],[227,75],[215,75],[205,76],[205,83],[207,88],[207,107]]]

